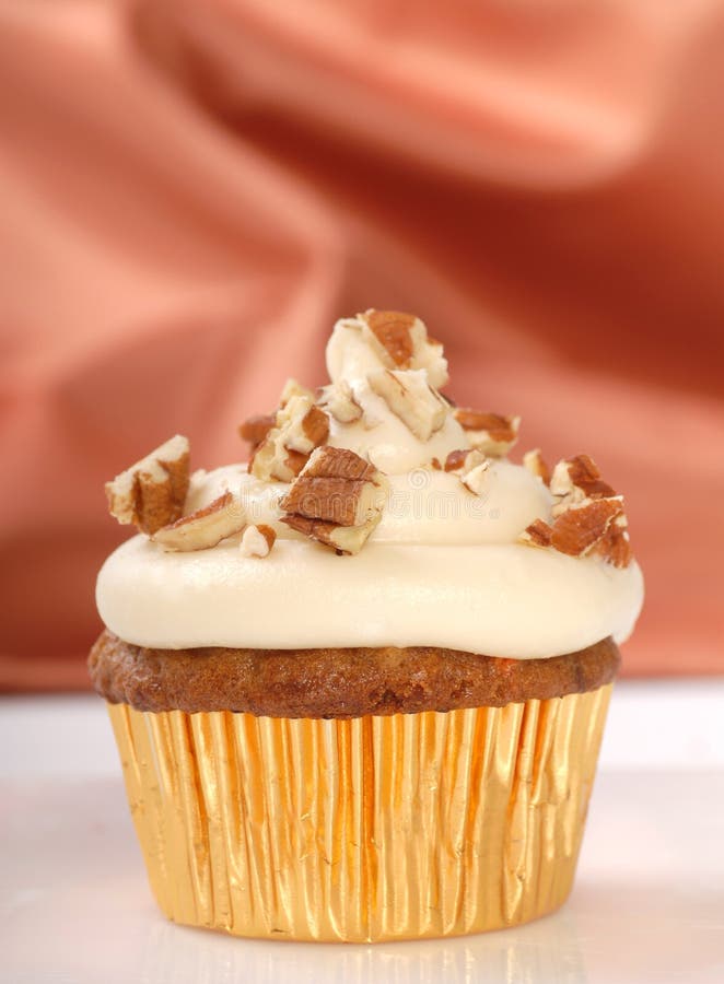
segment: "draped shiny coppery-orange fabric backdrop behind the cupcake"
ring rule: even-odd
[[[722,119],[721,0],[0,3],[0,684],[84,686],[104,480],[369,306],[626,492],[626,671],[724,671]]]

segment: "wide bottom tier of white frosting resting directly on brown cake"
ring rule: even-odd
[[[635,564],[512,543],[367,543],[357,557],[278,540],[264,560],[227,541],[164,553],[133,537],[98,578],[101,617],[160,648],[432,645],[528,659],[627,637],[641,604]]]

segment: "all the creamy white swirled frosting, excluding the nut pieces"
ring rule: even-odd
[[[430,645],[517,659],[575,652],[608,635],[624,641],[643,601],[638,564],[621,569],[518,542],[533,520],[550,519],[546,485],[497,459],[476,495],[433,468],[432,458],[468,446],[466,434],[448,413],[429,441],[416,437],[369,386],[369,373],[383,366],[353,319],[337,324],[329,376],[349,386],[362,418],[330,418],[328,443],[367,458],[390,485],[359,554],[337,557],[281,523],[287,483],[256,479],[245,465],[197,471],[186,512],[230,491],[248,523],[275,528],[273,549],[244,557],[236,536],[174,553],[133,537],[98,575],[107,628],[154,648]],[[421,349],[412,371],[444,384],[439,347]]]

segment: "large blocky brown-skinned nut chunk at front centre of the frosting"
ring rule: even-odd
[[[354,452],[320,447],[311,456],[280,506],[292,529],[357,553],[379,522],[388,492],[382,472]]]

